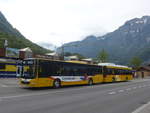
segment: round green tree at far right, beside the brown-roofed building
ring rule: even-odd
[[[133,57],[130,61],[130,64],[132,67],[134,67],[135,69],[139,68],[140,65],[142,64],[142,60],[139,57]]]

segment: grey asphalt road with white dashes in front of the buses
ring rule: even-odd
[[[0,79],[0,113],[132,113],[149,101],[150,79],[60,89]]]

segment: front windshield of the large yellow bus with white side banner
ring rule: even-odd
[[[21,74],[22,78],[33,79],[35,78],[35,61],[34,60],[24,60],[23,67],[24,73]]]

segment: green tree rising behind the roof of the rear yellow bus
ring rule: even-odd
[[[98,54],[97,59],[99,62],[107,62],[108,61],[108,53],[102,49],[102,51]]]

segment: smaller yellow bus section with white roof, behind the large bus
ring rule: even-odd
[[[99,64],[101,65],[101,64]],[[103,82],[119,82],[133,79],[132,68],[115,64],[102,64]]]

